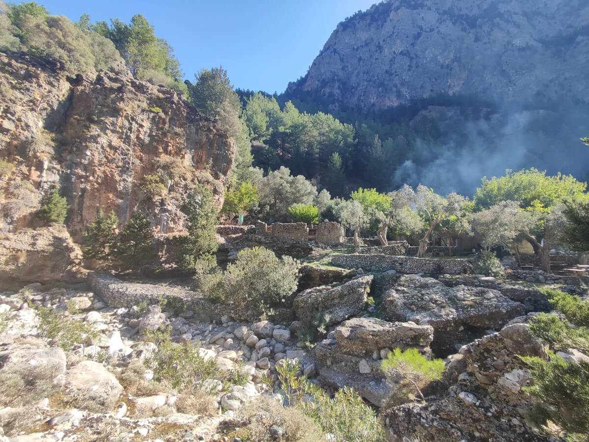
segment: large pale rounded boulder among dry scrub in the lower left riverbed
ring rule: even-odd
[[[67,372],[64,395],[75,406],[95,412],[108,412],[123,393],[117,378],[94,361],[82,361]]]

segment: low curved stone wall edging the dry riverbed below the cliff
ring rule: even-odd
[[[136,284],[121,281],[105,273],[91,272],[88,284],[92,291],[109,307],[133,307],[143,301],[148,304],[159,304],[161,300],[170,300],[174,305],[186,305],[186,310],[193,310],[198,320],[203,322],[220,321],[222,315],[229,315],[236,321],[253,322],[259,319],[255,309],[237,307],[231,304],[214,304],[202,297],[200,293],[180,288],[164,287],[154,284]],[[292,320],[290,308],[277,308],[277,314]]]

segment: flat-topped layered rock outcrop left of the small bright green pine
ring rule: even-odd
[[[414,323],[388,323],[377,318],[353,318],[335,329],[334,339],[325,339],[315,348],[319,380],[333,387],[352,387],[383,407],[399,389],[399,382],[380,368],[381,357],[389,350],[410,347],[430,354],[433,329]]]

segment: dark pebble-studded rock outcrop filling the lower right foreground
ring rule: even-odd
[[[544,345],[528,332],[527,324],[508,325],[466,345],[452,360],[456,367],[449,367],[448,371],[458,371],[458,381],[444,397],[386,412],[387,439],[547,440],[535,434],[525,420],[525,412],[534,402],[522,387],[530,384],[531,375],[515,355],[546,357]]]

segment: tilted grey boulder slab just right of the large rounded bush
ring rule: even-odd
[[[309,312],[321,311],[326,325],[338,324],[364,310],[373,278],[359,276],[336,287],[323,285],[302,291],[294,298],[294,312],[302,319]]]

